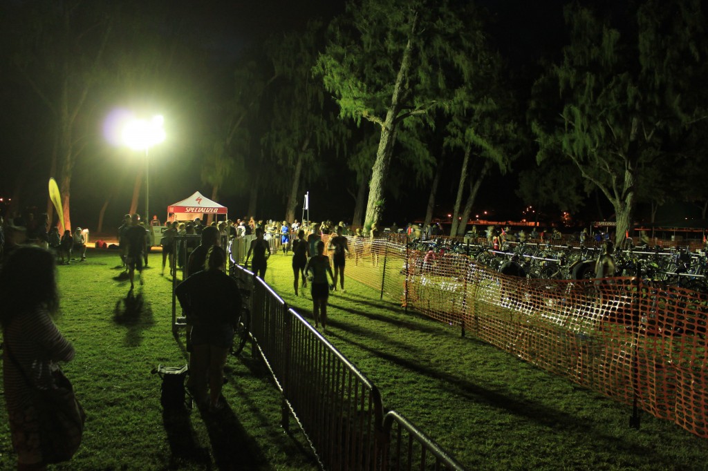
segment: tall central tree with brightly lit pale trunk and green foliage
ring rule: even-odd
[[[462,64],[484,51],[469,4],[362,0],[347,11],[348,18],[333,23],[315,71],[336,96],[341,117],[380,129],[365,219],[370,226],[382,216],[397,128],[449,106],[454,89],[447,76],[472,70]]]

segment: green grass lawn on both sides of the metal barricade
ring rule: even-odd
[[[229,359],[229,407],[163,417],[157,364],[179,366],[185,352],[170,331],[171,282],[151,255],[137,286],[121,277],[118,254],[89,252],[58,267],[62,330],[76,347],[65,371],[89,420],[67,470],[314,470],[302,434],[280,429],[280,400],[249,347]],[[268,262],[265,281],[307,318],[309,293],[292,289],[290,255]],[[307,291],[307,290],[306,290]],[[708,441],[574,387],[459,330],[404,313],[396,303],[346,280],[330,297],[326,337],[378,386],[384,406],[411,419],[470,470],[704,470]],[[0,411],[0,469],[15,465]]]

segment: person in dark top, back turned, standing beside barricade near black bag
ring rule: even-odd
[[[188,388],[193,390],[198,404],[207,405],[211,412],[224,407],[219,400],[224,365],[241,310],[241,291],[236,281],[224,273],[225,266],[224,250],[212,245],[204,269],[185,279],[175,290],[187,322],[192,326]],[[205,293],[209,296],[204,296]]]

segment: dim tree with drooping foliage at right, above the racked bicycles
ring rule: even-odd
[[[603,18],[566,7],[571,41],[535,84],[538,161],[566,158],[615,209],[617,242],[631,227],[642,169],[679,153],[667,144],[704,114],[697,96],[708,50],[701,3],[641,2]],[[554,94],[549,94],[554,91]]]

